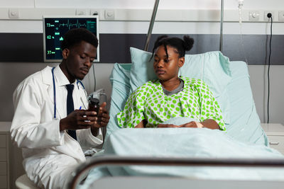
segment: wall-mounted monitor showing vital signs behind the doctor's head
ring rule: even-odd
[[[61,62],[61,41],[64,34],[72,28],[87,28],[99,40],[98,16],[43,16],[44,62]],[[94,62],[99,62],[99,46]]]

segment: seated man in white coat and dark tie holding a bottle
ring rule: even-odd
[[[61,44],[62,62],[28,76],[13,93],[11,138],[23,151],[28,178],[40,188],[66,188],[67,178],[85,155],[102,148],[109,122],[106,103],[88,108],[79,80],[89,72],[98,40],[88,30],[69,30]]]

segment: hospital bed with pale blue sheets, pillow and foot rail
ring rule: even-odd
[[[226,132],[121,129],[116,114],[139,85],[135,82],[153,76],[152,63],[146,62],[150,56],[131,48],[132,64],[114,65],[104,150],[72,173],[70,188],[283,188],[284,156],[268,147],[253,102],[248,67],[245,62],[229,61],[221,52],[186,55],[180,74],[192,74],[212,88],[225,113]],[[217,71],[214,75],[218,77],[211,83],[210,71]],[[223,72],[229,77],[222,76]],[[163,139],[169,142],[158,142]]]

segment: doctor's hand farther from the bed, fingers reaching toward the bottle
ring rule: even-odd
[[[60,131],[62,130],[82,130],[92,127],[97,121],[95,111],[74,110],[66,118],[60,120]]]

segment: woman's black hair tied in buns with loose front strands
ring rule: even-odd
[[[193,38],[190,38],[189,35],[184,35],[183,40],[180,38],[175,38],[175,37],[169,38],[168,35],[161,35],[155,41],[155,45],[153,47],[153,52],[152,52],[152,57],[154,55],[155,50],[161,45],[165,47],[165,54],[167,55],[167,58],[168,58],[167,45],[178,50],[177,53],[179,57],[185,57],[185,51],[191,50],[194,42],[195,40],[193,40]]]

